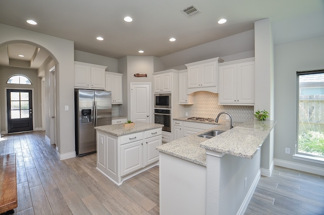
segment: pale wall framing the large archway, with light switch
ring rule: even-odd
[[[57,147],[61,159],[75,156],[74,144],[74,45],[72,41],[55,38],[21,28],[0,24],[0,45],[27,43],[46,50],[56,62],[57,72]],[[68,105],[69,111],[64,111]]]

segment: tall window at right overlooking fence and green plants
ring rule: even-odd
[[[324,69],[297,71],[296,154],[324,158]]]

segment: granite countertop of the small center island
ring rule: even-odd
[[[123,136],[126,134],[137,133],[141,131],[151,130],[154,128],[161,128],[164,125],[155,124],[155,123],[145,123],[145,122],[135,122],[134,126],[124,127],[124,123],[116,124],[116,125],[103,125],[97,126],[95,129],[99,131],[103,131],[108,134],[112,134],[115,136]]]

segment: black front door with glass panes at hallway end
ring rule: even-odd
[[[7,89],[8,133],[32,131],[31,90]]]

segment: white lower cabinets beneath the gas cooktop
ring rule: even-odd
[[[217,125],[173,120],[173,140],[213,128]]]

